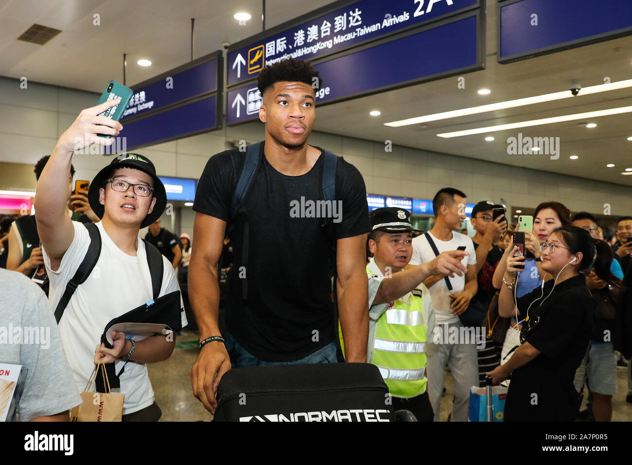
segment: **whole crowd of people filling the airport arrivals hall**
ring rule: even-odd
[[[97,134],[123,130],[99,116],[117,100],[80,113],[35,168],[35,215],[2,223],[0,288],[10,291],[0,294],[0,321],[51,327],[53,350],[0,344],[0,362],[28,368],[20,420],[67,420],[104,363],[125,394],[122,420],[157,421],[146,364],[171,356],[173,333],[101,335],[176,291],[164,311],[197,328],[191,389],[211,414],[229,369],[341,362],[376,365],[396,408],[420,421],[439,420],[446,369],[451,421],[467,421],[470,389],[486,376],[508,381],[505,421],[609,421],[617,365],[628,367],[632,403],[632,216],[612,233],[590,213],[543,202],[521,230],[522,250],[492,201],[471,211],[473,237],[459,232],[466,194],[454,187],[434,195],[427,232],[405,209],[369,213],[355,166],[307,144],[314,82],[322,86],[319,73],[295,59],[260,73],[265,140],[209,158],[193,205],[195,248],[161,226],[166,193],[142,154],[112,159],[87,192],[73,192],[76,140],[106,146],[113,139]],[[305,199],[340,210],[290,209]]]

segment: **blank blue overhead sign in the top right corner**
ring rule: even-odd
[[[499,63],[632,34],[630,0],[514,0],[497,8]]]

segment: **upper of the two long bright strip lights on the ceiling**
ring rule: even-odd
[[[487,105],[473,106],[470,108],[460,108],[451,111],[443,111],[442,113],[434,113],[432,115],[415,116],[414,118],[407,118],[406,120],[390,121],[389,123],[384,123],[384,125],[391,127],[400,127],[421,124],[427,123],[428,121],[446,120],[447,118],[459,118],[459,116],[477,115],[478,113],[487,113],[488,111],[516,108],[519,106],[533,105],[537,103],[550,102],[560,99],[583,98],[583,96],[587,96],[590,94],[609,92],[610,90],[627,89],[628,87],[632,87],[632,79],[612,82],[608,85],[598,84],[592,85],[590,87],[584,87],[583,89],[581,89],[581,94],[577,97],[574,97],[573,94],[571,94],[571,92],[569,92],[568,90],[562,90],[561,92],[554,92],[552,94],[543,94],[540,96],[525,97],[523,99],[507,100],[504,102],[490,103]],[[588,118],[588,116],[586,116],[586,118]]]

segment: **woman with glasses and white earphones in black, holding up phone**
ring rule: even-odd
[[[494,383],[511,375],[505,421],[574,421],[580,407],[574,374],[594,322],[593,299],[581,271],[590,269],[595,254],[604,253],[605,247],[576,226],[556,228],[540,245],[542,270],[552,278],[518,299],[513,287],[521,270],[516,265],[525,257],[507,257],[499,314],[513,314],[522,322],[521,345],[506,364],[489,373]],[[616,285],[611,273],[604,278]]]

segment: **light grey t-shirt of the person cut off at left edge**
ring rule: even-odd
[[[0,363],[28,369],[18,405],[20,421],[55,415],[81,404],[44,292],[27,276],[3,269],[0,289],[0,334],[4,331],[5,335],[0,340]]]

